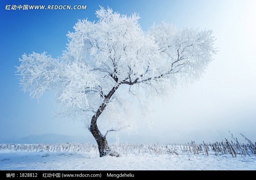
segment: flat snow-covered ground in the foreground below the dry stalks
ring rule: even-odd
[[[256,155],[0,151],[0,170],[256,170]]]

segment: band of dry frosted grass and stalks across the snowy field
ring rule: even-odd
[[[231,133],[230,133],[231,134]],[[232,134],[231,134],[232,135]],[[241,134],[242,135],[242,134]],[[242,135],[244,137],[244,135]],[[186,144],[143,144],[143,143],[115,143],[110,144],[110,148],[119,154],[169,154],[179,155],[182,153],[192,153],[197,155],[224,155],[230,154],[232,157],[256,154],[256,143],[244,137],[247,144],[241,144],[237,138],[227,139],[223,142],[196,144],[195,141]],[[16,152],[36,151],[36,152],[91,152],[98,151],[96,144],[90,143],[65,143],[65,144],[0,144],[1,150],[13,150]]]

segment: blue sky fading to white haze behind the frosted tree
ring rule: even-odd
[[[86,10],[5,10],[6,5],[86,5]],[[2,43],[0,66],[0,143],[92,142],[83,123],[54,118],[58,108],[52,94],[31,100],[15,75],[19,58],[26,53],[62,54],[78,19],[97,20],[95,11],[111,7],[131,15],[147,30],[165,20],[178,28],[212,29],[218,54],[204,77],[187,88],[178,88],[172,105],[152,102],[156,111],[153,129],[138,121],[137,132],[118,132],[123,142],[185,143],[238,140],[240,133],[256,141],[256,3],[253,0],[148,0],[148,1],[12,1],[0,2]],[[115,134],[108,135],[115,142]]]

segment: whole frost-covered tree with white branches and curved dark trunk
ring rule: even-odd
[[[198,80],[215,50],[212,30],[178,30],[162,22],[144,32],[136,13],[128,17],[100,7],[96,15],[97,22],[79,20],[68,32],[60,58],[24,54],[17,72],[32,98],[53,90],[63,105],[59,115],[81,118],[102,157],[111,152],[108,132],[136,128],[135,101],[135,112],[150,123],[149,100],[168,100],[178,84]],[[107,124],[104,134],[100,123]]]

